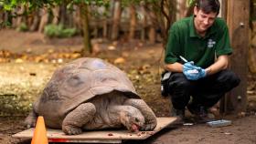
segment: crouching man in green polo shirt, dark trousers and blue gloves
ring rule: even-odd
[[[228,26],[217,17],[219,7],[219,0],[197,0],[194,15],[169,30],[165,69],[171,72],[167,92],[173,117],[184,118],[186,107],[200,118],[207,117],[208,108],[240,84],[240,78],[227,69],[232,48]]]

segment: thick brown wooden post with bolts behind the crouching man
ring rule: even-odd
[[[229,0],[227,22],[233,55],[230,68],[239,75],[240,86],[229,92],[227,112],[239,114],[247,105],[247,72],[249,49],[249,0]],[[235,111],[233,111],[235,110]]]

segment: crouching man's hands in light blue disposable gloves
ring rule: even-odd
[[[183,73],[189,80],[197,80],[207,76],[206,70],[195,66],[193,61],[183,65]]]

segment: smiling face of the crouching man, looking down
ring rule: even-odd
[[[208,30],[208,27],[212,26],[217,13],[206,14],[202,10],[194,8],[194,15],[197,15],[194,19],[194,24],[197,30],[197,33],[202,34]]]

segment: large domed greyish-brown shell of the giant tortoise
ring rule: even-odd
[[[139,98],[133,83],[118,67],[99,58],[83,57],[54,72],[34,109],[45,118],[63,118],[81,103],[113,90]]]

